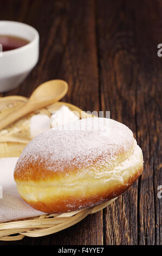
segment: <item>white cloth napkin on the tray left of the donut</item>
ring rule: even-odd
[[[27,204],[18,194],[14,168],[18,157],[0,159],[0,222],[44,215]]]

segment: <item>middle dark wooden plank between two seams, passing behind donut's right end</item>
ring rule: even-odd
[[[111,118],[135,127],[135,75],[133,36],[129,17],[119,1],[98,1],[96,7],[100,58],[101,106]],[[124,29],[121,23],[125,22]],[[125,28],[127,26],[127,29]],[[128,31],[128,32],[127,32]],[[137,183],[103,211],[107,245],[137,244]]]

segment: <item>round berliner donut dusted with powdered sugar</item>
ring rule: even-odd
[[[142,151],[127,126],[87,118],[35,137],[18,159],[14,178],[33,208],[61,213],[118,197],[142,169]]]

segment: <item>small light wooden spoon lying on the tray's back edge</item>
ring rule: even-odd
[[[0,130],[24,115],[59,101],[68,91],[68,84],[63,80],[51,80],[38,86],[27,103],[1,120]]]

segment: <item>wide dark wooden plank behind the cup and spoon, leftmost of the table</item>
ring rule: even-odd
[[[60,78],[69,83],[64,101],[85,111],[99,111],[98,63],[93,1],[10,1],[3,19],[18,20],[40,32],[39,62],[20,87],[5,95],[29,96],[38,84]],[[19,10],[14,7],[18,5]],[[28,8],[26,8],[28,7]],[[12,13],[12,8],[13,12]],[[23,13],[20,14],[20,10]],[[102,212],[88,216],[60,233],[24,238],[10,245],[102,245]],[[7,244],[7,242],[1,242]]]

